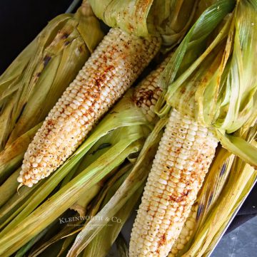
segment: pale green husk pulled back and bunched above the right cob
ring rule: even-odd
[[[252,117],[256,117],[257,77],[253,53],[257,48],[255,27],[251,25],[256,23],[256,3],[238,1],[216,38],[187,70],[176,77],[183,54],[191,43],[195,46],[201,43],[198,28],[203,26],[202,17],[215,25],[212,21],[221,21],[231,11],[231,6],[233,1],[214,4],[188,32],[163,71],[161,83],[167,91],[164,90],[157,109],[160,115],[166,115],[172,106],[185,115],[195,117],[201,124],[213,128],[223,147],[256,167],[256,147],[236,134],[231,135],[248,124],[249,119],[254,122]],[[220,19],[213,19],[214,16]],[[204,31],[200,30],[203,38],[206,36]],[[195,34],[200,38],[196,42],[193,41]]]

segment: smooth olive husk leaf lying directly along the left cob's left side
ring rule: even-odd
[[[31,93],[7,144],[13,142],[16,137],[22,135],[36,123],[44,120],[86,59],[86,56],[83,56],[86,49],[83,47],[81,47],[83,51],[79,52],[81,56],[76,56],[79,46],[83,46],[81,40],[74,39],[58,56],[50,57],[48,55],[51,60],[44,68],[44,72],[39,75],[39,79],[36,80],[36,90]],[[55,50],[54,53],[56,53]],[[72,73],[71,65],[74,67]]]

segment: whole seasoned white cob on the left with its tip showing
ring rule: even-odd
[[[111,28],[36,133],[24,155],[18,182],[32,187],[63,164],[160,45],[160,38],[139,38]]]

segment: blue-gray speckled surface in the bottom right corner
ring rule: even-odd
[[[257,217],[223,236],[211,257],[257,256]]]

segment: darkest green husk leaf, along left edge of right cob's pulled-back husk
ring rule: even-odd
[[[166,115],[169,112],[172,99],[176,100],[181,99],[181,96],[183,97],[181,85],[186,81],[188,83],[187,79],[191,78],[191,75],[195,70],[197,71],[203,60],[227,36],[231,19],[228,19],[221,31],[206,48],[208,36],[216,29],[224,17],[233,10],[234,4],[234,1],[218,1],[208,7],[183,38],[161,74],[159,83],[164,90],[155,107],[159,116]],[[174,93],[181,96],[179,98],[176,96],[175,98],[173,96]],[[186,103],[186,100],[183,101]],[[182,110],[184,109],[186,108]]]

